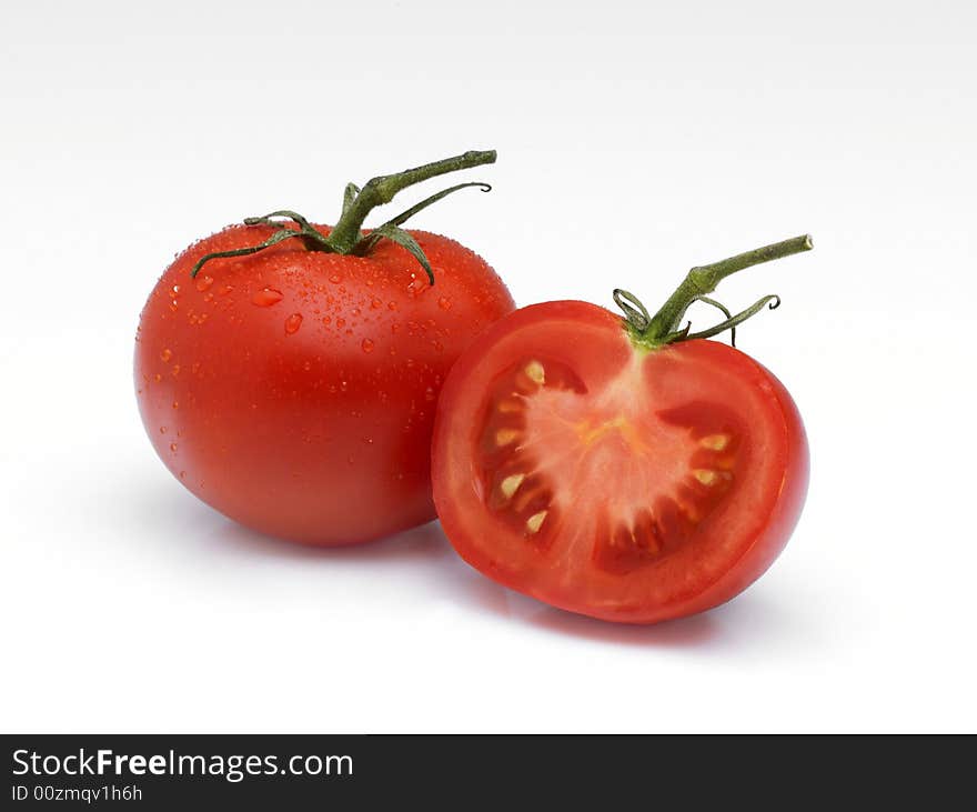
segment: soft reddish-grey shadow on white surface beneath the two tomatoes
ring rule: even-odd
[[[350,568],[353,578],[372,578],[371,567],[389,565],[407,591],[433,594],[461,611],[486,612],[505,623],[540,632],[612,645],[688,648],[705,652],[762,649],[765,653],[810,645],[810,624],[770,593],[751,589],[709,612],[655,625],[608,623],[550,608],[483,577],[452,549],[435,520],[385,539],[344,547],[313,547],[283,541],[226,519],[180,489],[147,488],[127,501],[130,529],[149,523],[181,555],[221,559],[274,559],[303,567]],[[128,523],[127,522],[127,523]],[[138,531],[135,531],[138,532]],[[364,564],[364,567],[360,567]]]

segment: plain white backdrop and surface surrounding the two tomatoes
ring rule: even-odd
[[[51,3],[0,49],[4,731],[970,731],[971,3]],[[805,417],[806,512],[705,615],[618,628],[470,570],[437,524],[316,551],[155,458],[131,359],[193,239],[495,148],[416,219],[521,304],[724,283]],[[435,187],[403,196],[409,203]],[[413,197],[412,197],[413,196]],[[699,324],[713,319],[698,315]]]

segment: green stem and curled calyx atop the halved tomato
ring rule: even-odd
[[[697,265],[688,271],[682,284],[662,305],[657,313],[652,315],[647,308],[633,293],[617,288],[614,290],[614,302],[624,311],[624,325],[632,343],[644,350],[657,350],[667,344],[693,339],[708,339],[718,335],[726,330],[732,333],[732,344],[736,347],[736,327],[747,319],[752,319],[764,308],[776,310],[780,305],[778,295],[765,295],[752,305],[735,315],[722,302],[708,297],[716,285],[726,277],[745,268],[752,268],[763,262],[782,259],[790,254],[809,251],[814,248],[810,234],[802,234],[789,240],[775,242],[770,245],[746,251],[745,253],[729,257],[707,265]],[[679,327],[685,313],[695,302],[709,304],[722,311],[726,317],[718,324],[692,332],[692,322]]]

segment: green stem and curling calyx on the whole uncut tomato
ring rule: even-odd
[[[244,218],[245,225],[272,225],[279,230],[258,245],[249,245],[230,251],[215,251],[201,257],[191,269],[190,277],[195,278],[200,273],[200,269],[212,260],[246,257],[276,245],[284,240],[301,239],[310,251],[366,257],[380,240],[386,239],[410,251],[426,272],[430,283],[434,284],[434,272],[431,269],[427,257],[424,255],[424,251],[417,244],[417,241],[407,231],[402,229],[401,225],[417,212],[461,189],[479,187],[483,192],[488,192],[492,190],[491,186],[476,181],[459,183],[449,189],[443,189],[436,194],[432,194],[430,198],[425,198],[420,203],[412,205],[406,211],[401,212],[395,218],[372,229],[369,234],[364,234],[362,231],[363,222],[374,208],[389,203],[397,192],[410,186],[446,174],[447,172],[456,172],[462,169],[471,169],[472,167],[494,162],[495,150],[470,150],[461,156],[425,163],[422,167],[406,169],[395,174],[382,174],[371,178],[362,188],[355,183],[348,183],[343,193],[342,214],[328,235],[319,231],[304,217],[288,209],[273,211],[263,217]],[[288,222],[283,222],[278,218],[285,218]]]

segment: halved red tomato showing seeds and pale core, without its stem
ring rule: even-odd
[[[728,600],[799,514],[807,445],[783,385],[712,341],[646,351],[582,302],[503,319],[439,405],[434,498],[496,580],[564,609],[654,622]]]

